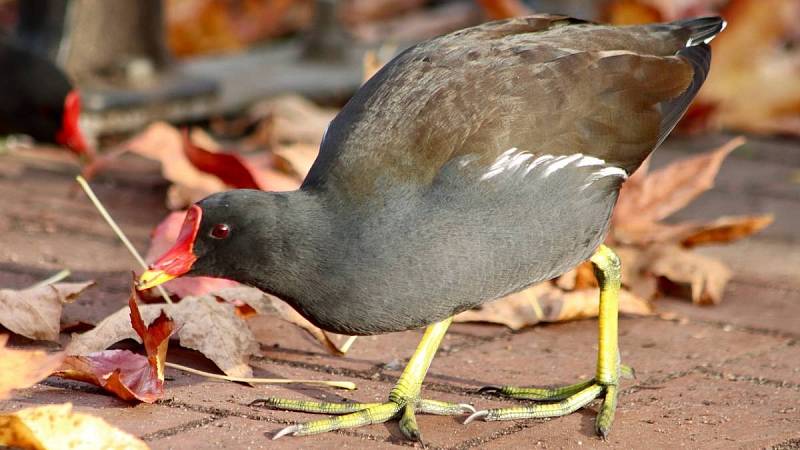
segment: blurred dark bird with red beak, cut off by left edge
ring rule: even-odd
[[[90,155],[78,118],[81,97],[52,61],[12,39],[0,40],[0,135],[37,141]]]

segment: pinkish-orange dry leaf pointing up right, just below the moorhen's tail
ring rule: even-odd
[[[651,172],[640,183],[625,183],[613,225],[655,223],[685,207],[714,185],[722,161],[744,142],[743,137],[732,139],[716,150]]]

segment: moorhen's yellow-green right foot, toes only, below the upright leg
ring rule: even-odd
[[[628,366],[619,366],[619,376],[612,382],[599,382],[596,379],[582,381],[557,388],[518,388],[513,386],[486,386],[480,390],[482,393],[496,393],[506,397],[534,400],[538,403],[527,406],[509,408],[494,408],[477,411],[464,421],[465,424],[473,420],[517,420],[539,419],[545,417],[560,417],[573,413],[586,406],[596,398],[602,398],[603,404],[597,415],[597,434],[603,438],[608,436],[611,424],[614,421],[614,412],[617,408],[618,379],[633,378],[634,372]]]

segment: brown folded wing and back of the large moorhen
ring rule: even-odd
[[[488,168],[512,147],[632,171],[659,140],[659,104],[692,83],[692,64],[675,56],[690,36],[680,25],[532,16],[421,43],[334,119],[304,187],[378,198],[429,186],[456,156]]]

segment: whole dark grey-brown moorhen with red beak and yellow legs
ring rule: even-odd
[[[603,242],[625,180],[675,127],[709,71],[720,17],[611,26],[561,15],[493,21],[416,44],[331,121],[301,187],[232,190],[192,205],[174,247],[138,279],[228,278],[317,326],[372,335],[427,327],[384,403],[267,398],[331,414],[273,438],[399,420],[556,417],[602,400],[608,436],[620,378],[620,261]],[[452,317],[583,261],[600,284],[593,379],[489,386],[532,404],[476,411],[421,396]]]

